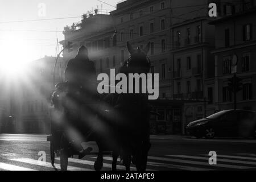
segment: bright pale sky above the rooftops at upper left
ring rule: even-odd
[[[105,0],[104,2],[116,6],[119,1]],[[40,3],[46,5],[46,16],[39,16],[38,6]],[[20,64],[45,55],[55,56],[56,37],[58,36],[59,40],[64,39],[61,32],[56,33],[55,31],[63,31],[64,26],[79,22],[81,18],[6,22],[81,16],[89,10],[96,9],[97,6],[104,10],[115,9],[97,0],[1,0],[0,63],[15,60],[16,64]]]

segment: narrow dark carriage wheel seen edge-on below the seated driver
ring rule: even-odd
[[[60,170],[68,170],[68,140],[65,134],[61,137],[61,152],[60,152]]]

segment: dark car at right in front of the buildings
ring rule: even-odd
[[[197,138],[255,137],[256,112],[248,110],[224,110],[207,118],[193,121],[186,127]]]

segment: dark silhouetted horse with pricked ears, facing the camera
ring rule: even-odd
[[[150,71],[150,60],[147,53],[150,43],[145,49],[133,49],[127,42],[127,49],[130,53],[129,59],[122,65],[119,72],[128,75],[129,73],[148,73]],[[129,85],[128,85],[129,86]],[[102,118],[110,119],[116,147],[113,149],[112,170],[117,168],[118,155],[123,159],[123,165],[130,171],[130,164],[133,162],[138,171],[145,171],[147,166],[147,155],[150,150],[150,106],[147,94],[109,94],[104,98],[112,111]],[[111,118],[108,115],[112,115]],[[102,167],[103,155],[101,144],[98,143],[99,154],[96,160],[98,167]]]

